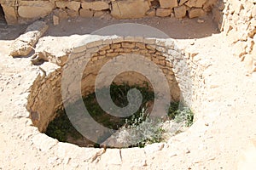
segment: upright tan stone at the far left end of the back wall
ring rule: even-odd
[[[15,25],[18,23],[17,15],[15,14],[15,8],[9,5],[1,4],[3,7],[4,17],[9,25]]]

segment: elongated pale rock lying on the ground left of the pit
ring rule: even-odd
[[[10,47],[10,55],[13,57],[30,54],[38,39],[44,35],[48,26],[43,21],[36,21],[28,26],[25,33],[20,35]]]

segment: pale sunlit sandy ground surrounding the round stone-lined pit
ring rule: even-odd
[[[9,57],[9,45],[26,26],[0,26],[0,169],[131,169],[133,164],[147,166],[133,169],[236,169],[237,161],[249,139],[256,138],[256,78],[247,75],[240,60],[232,55],[222,33],[205,18],[197,20],[141,19],[63,20],[50,26],[45,36],[61,37],[87,34],[103,26],[135,22],[153,26],[177,39],[180,47],[203,56],[211,66],[205,71],[208,99],[202,104],[204,116],[189,129],[165,144],[165,148],[145,156],[133,155],[121,165],[109,161],[113,150],[100,161],[88,163],[65,161],[53,146],[45,151],[36,147],[33,133],[38,133],[27,118],[26,96],[38,74],[28,58]],[[196,132],[196,133],[193,133]],[[44,145],[44,144],[43,144]],[[143,157],[143,158],[142,158]]]

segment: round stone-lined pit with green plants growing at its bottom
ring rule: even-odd
[[[73,107],[78,101],[78,96],[74,90],[77,82],[71,81],[66,84],[67,87],[64,86],[67,89],[67,94],[69,94],[68,98],[64,99],[64,101],[63,95],[65,94],[61,94],[63,83],[66,83],[63,82],[63,77],[66,76],[65,71],[68,69],[72,70],[72,68],[79,70],[79,67],[84,65],[84,60],[88,60],[88,55],[86,54],[89,52],[90,59],[86,67],[83,67],[83,74],[80,76],[79,86],[85,107],[91,107],[91,110],[88,110],[90,110],[90,116],[94,118],[94,121],[104,127],[111,127],[113,130],[117,130],[117,132],[108,133],[109,131],[101,131],[87,126],[88,131],[93,129],[92,133],[95,134],[91,139],[81,135],[81,132],[76,130],[76,125],[72,127],[73,123],[69,121],[68,118],[70,117],[66,114],[67,107],[64,104]],[[114,65],[122,62],[118,58],[120,55],[125,55],[125,59],[129,60],[130,54],[143,55],[144,59],[148,59],[157,65],[165,75],[170,89],[169,97],[171,99],[171,105],[165,108],[166,116],[158,117],[158,119],[148,116],[150,115],[151,106],[154,105],[154,98],[157,98],[157,96],[153,95],[154,88],[152,88],[152,84],[147,79],[147,76],[138,74],[136,71],[125,71],[116,76],[113,79],[110,91],[113,103],[120,107],[125,107],[127,105],[127,90],[131,88],[139,89],[143,94],[144,100],[143,105],[140,105],[136,114],[134,116],[119,118],[108,116],[106,112],[100,111],[95,98],[96,77],[102,71],[102,67],[108,64],[109,61],[114,61],[111,68],[115,68]],[[187,59],[177,50],[171,39],[168,41],[157,39],[156,41],[153,38],[142,39],[142,37],[130,37],[129,40],[120,37],[108,37],[102,38],[99,41],[86,42],[86,44],[73,49],[73,53],[66,60],[66,65],[37,78],[32,86],[27,110],[31,113],[30,117],[34,126],[38,127],[40,132],[46,133],[50,137],[59,139],[60,141],[79,146],[102,147],[107,145],[110,148],[143,147],[145,144],[165,141],[164,139],[167,140],[170,136],[186,130],[193,122],[194,115],[188,105],[186,105],[187,97],[184,95],[185,91],[189,90],[187,82],[189,82],[188,77],[190,76],[190,71],[189,68],[188,72],[181,71],[184,66],[188,66],[186,62]],[[124,63],[122,64],[124,65]],[[128,68],[131,65],[125,64],[124,67],[127,67],[127,70],[129,70]],[[154,71],[150,72],[150,70],[148,72],[148,75],[154,73]],[[76,72],[73,72],[72,80],[79,78],[77,75]],[[111,75],[108,76],[107,74],[103,81],[108,80]],[[162,82],[158,81],[157,84],[161,86]],[[97,90],[101,91],[104,88],[102,86],[97,88]],[[120,94],[122,94],[121,98],[119,98]],[[83,106],[75,105],[72,109],[73,113],[76,114],[79,112],[79,108],[81,107]],[[84,120],[83,117],[77,119],[78,122]],[[84,122],[79,123],[79,126],[86,124]],[[147,128],[145,129],[145,127]],[[136,131],[132,129],[136,129]],[[126,136],[120,136],[124,132]],[[123,142],[120,144],[117,142],[117,139],[132,136],[127,132],[139,133],[139,135],[145,136],[148,133],[152,133],[153,137],[151,135],[152,138],[149,136],[148,138],[132,142],[132,144],[128,142],[129,144],[124,146],[122,145]]]

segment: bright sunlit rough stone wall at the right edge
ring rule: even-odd
[[[218,1],[213,9],[218,27],[234,46],[234,55],[244,61],[247,71],[256,71],[256,1]]]

